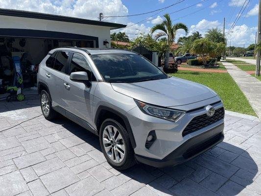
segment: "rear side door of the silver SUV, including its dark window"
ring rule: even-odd
[[[48,62],[48,60],[51,62]],[[63,81],[66,75],[69,52],[55,51],[48,60],[45,75],[47,77],[48,89],[52,99],[52,106],[64,107]]]

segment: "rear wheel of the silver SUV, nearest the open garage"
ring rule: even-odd
[[[43,99],[46,98],[46,107],[44,107],[44,104],[42,103],[42,100],[43,100],[42,98]],[[42,110],[42,113],[43,113],[45,119],[50,121],[50,120],[53,120],[53,119],[55,119],[57,117],[57,112],[54,111],[52,109],[52,106],[51,106],[51,96],[45,90],[41,91],[41,94],[40,94],[40,104],[41,104],[41,110]],[[47,108],[47,104],[48,104],[48,109],[49,109],[48,113],[46,112],[48,110],[48,109],[46,109]]]

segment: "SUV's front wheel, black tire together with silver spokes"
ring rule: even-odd
[[[117,135],[116,138],[120,138],[119,136],[121,136],[121,139],[122,139],[122,141],[121,141],[121,139],[119,140],[119,145],[118,145],[118,143],[115,144],[115,145],[117,145],[116,148],[118,150],[114,149],[114,151],[115,151],[114,154],[113,154],[113,151],[111,151],[111,150],[109,150],[108,153],[106,152],[105,146],[110,147],[110,146],[113,146],[113,145],[110,145],[112,143],[110,143],[110,144],[106,143],[105,140],[103,139],[106,134],[108,135],[110,126],[114,127],[114,128],[111,128],[112,133],[117,132],[116,129],[119,131],[120,135]],[[107,129],[106,129],[106,127],[107,127]],[[100,132],[99,132],[99,139],[100,139],[100,146],[101,146],[102,152],[103,152],[106,160],[108,161],[108,163],[113,168],[115,168],[117,170],[126,170],[126,169],[132,167],[133,165],[135,165],[136,160],[135,160],[135,157],[134,157],[134,150],[131,146],[129,134],[126,131],[126,129],[119,122],[117,122],[113,119],[106,119],[101,124]],[[122,145],[121,142],[123,142],[123,145]],[[123,156],[123,158],[122,158],[122,154],[119,153],[119,150],[122,149],[122,148],[119,148],[118,146],[124,146],[124,156]],[[108,150],[108,148],[107,148],[107,150]],[[112,155],[109,156],[109,153],[112,153]],[[117,156],[117,155],[119,155],[119,156]],[[117,157],[120,158],[120,160],[121,160],[120,162],[117,162]],[[113,160],[114,158],[116,160]]]

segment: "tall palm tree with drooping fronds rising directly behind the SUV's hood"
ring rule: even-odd
[[[188,27],[187,25],[183,23],[177,23],[172,25],[172,21],[170,19],[169,14],[164,15],[165,20],[161,24],[154,25],[151,28],[151,33],[154,33],[156,30],[159,30],[159,32],[155,35],[155,39],[158,40],[161,37],[167,37],[167,47],[166,47],[166,53],[165,53],[165,68],[168,68],[168,58],[169,58],[169,49],[171,44],[174,42],[177,30],[178,29],[184,29],[186,34],[188,33]]]

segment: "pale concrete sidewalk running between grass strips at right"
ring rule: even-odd
[[[237,68],[232,63],[221,61],[228,73],[233,77],[241,91],[249,100],[259,119],[261,119],[261,81]]]

